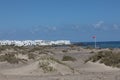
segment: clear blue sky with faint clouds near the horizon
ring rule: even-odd
[[[0,0],[0,40],[120,41],[120,0]]]

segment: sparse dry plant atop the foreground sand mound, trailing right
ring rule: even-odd
[[[45,55],[45,56],[40,57],[40,59],[39,59],[39,66],[40,66],[40,68],[42,68],[42,70],[45,73],[56,71],[56,68],[54,67],[55,63],[67,66],[74,72],[74,68],[72,68],[69,65],[67,65],[66,63],[63,63],[62,61],[54,58],[53,56]]]

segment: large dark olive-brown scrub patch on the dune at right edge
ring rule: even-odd
[[[99,61],[107,66],[120,68],[120,53],[113,53],[112,51],[100,51],[87,59],[85,63],[88,61]]]

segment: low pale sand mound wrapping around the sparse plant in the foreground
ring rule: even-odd
[[[4,75],[55,75],[55,74],[66,75],[66,74],[72,74],[72,70],[65,65],[55,63],[54,68],[56,68],[55,72],[44,73],[43,70],[39,68],[39,61],[36,61],[27,66],[3,70],[1,71],[1,73]]]

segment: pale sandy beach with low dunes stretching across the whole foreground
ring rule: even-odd
[[[99,62],[85,63],[85,60],[95,52],[105,50],[110,49],[84,49],[78,46],[6,48],[1,50],[0,55],[15,53],[17,58],[25,62],[11,64],[1,61],[0,80],[120,80],[119,68],[106,66]],[[29,58],[28,52],[35,54],[35,58]],[[63,61],[63,56],[72,56],[76,60]],[[40,66],[43,62],[49,63],[48,72]]]

